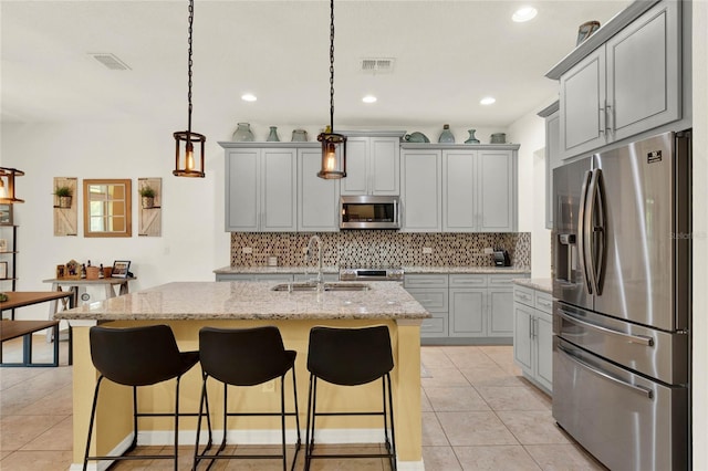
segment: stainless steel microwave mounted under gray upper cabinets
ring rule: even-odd
[[[397,196],[343,196],[340,229],[400,229]]]

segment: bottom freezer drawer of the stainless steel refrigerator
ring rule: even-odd
[[[687,388],[553,338],[553,418],[607,468],[688,469],[687,410]]]

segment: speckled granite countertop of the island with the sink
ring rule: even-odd
[[[368,291],[275,292],[277,282],[175,282],[54,314],[56,320],[423,320],[398,283]]]

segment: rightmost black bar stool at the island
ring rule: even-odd
[[[363,328],[313,327],[310,331],[308,369],[308,430],[305,435],[305,470],[315,458],[388,458],[396,470],[396,435],[391,370],[394,367],[391,336],[385,325]],[[358,386],[382,380],[382,410],[317,412],[317,380],[339,386]],[[388,399],[388,400],[386,400]],[[386,453],[314,454],[315,418],[320,416],[383,416]],[[391,420],[391,440],[388,440]]]

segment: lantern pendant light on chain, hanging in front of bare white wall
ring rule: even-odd
[[[173,134],[175,137],[175,170],[176,177],[201,177],[204,178],[204,145],[206,136],[191,132],[191,25],[195,19],[195,2],[189,0],[189,53],[187,61],[187,130],[178,130]],[[195,144],[199,145],[199,157],[195,156]],[[181,147],[184,145],[184,156]]]

